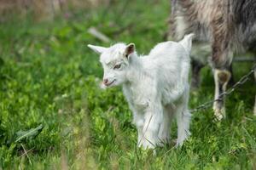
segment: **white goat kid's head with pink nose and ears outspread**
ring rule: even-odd
[[[97,54],[101,54],[100,62],[104,70],[103,88],[118,86],[126,81],[126,73],[132,55],[137,55],[134,43],[125,45],[117,43],[110,48],[88,45]]]

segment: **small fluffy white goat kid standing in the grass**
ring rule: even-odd
[[[177,118],[177,145],[189,137],[189,53],[192,34],[180,42],[161,42],[138,57],[133,43],[110,48],[88,45],[101,54],[103,86],[123,85],[137,127],[138,146],[154,148],[170,141]]]

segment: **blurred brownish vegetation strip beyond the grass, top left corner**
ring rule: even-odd
[[[12,17],[26,18],[32,15],[33,20],[54,20],[58,14],[73,13],[73,10],[96,8],[99,5],[110,5],[112,0],[1,0],[1,21]]]

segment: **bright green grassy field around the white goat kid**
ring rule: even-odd
[[[157,3],[158,2],[158,3]],[[182,148],[137,148],[120,88],[99,88],[102,68],[86,44],[135,42],[140,54],[163,41],[169,1],[122,1],[33,24],[0,25],[0,169],[256,169],[253,77],[227,99],[227,118],[198,111]],[[237,81],[252,64],[235,63]],[[212,99],[212,72],[201,72],[191,109]],[[175,124],[175,123],[174,123]],[[176,125],[172,139],[177,137]]]

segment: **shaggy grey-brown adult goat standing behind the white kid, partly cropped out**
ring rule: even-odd
[[[198,85],[199,71],[211,56],[214,99],[218,99],[213,110],[219,120],[225,116],[224,97],[220,94],[224,93],[231,78],[233,54],[247,50],[256,54],[255,11],[255,0],[172,0],[170,37],[179,40],[185,34],[195,33],[191,53],[194,59],[192,85]]]

